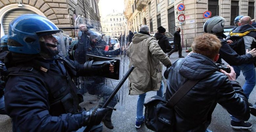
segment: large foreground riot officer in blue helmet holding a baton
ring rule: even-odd
[[[102,131],[106,109],[82,111],[83,98],[72,77],[113,72],[114,67],[107,62],[80,65],[65,58],[62,30],[39,15],[16,17],[8,32],[5,106],[13,131],[76,131],[93,125],[91,131]]]

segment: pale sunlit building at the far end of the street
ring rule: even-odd
[[[108,36],[120,36],[120,32],[123,30],[124,15],[123,13],[111,13],[106,17],[101,17],[101,26],[103,32]]]

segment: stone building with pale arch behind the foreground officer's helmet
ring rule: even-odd
[[[100,21],[98,2],[99,0],[0,0],[0,37],[7,34],[9,23],[15,17],[26,13],[47,17],[58,27],[74,26],[74,18],[78,15]],[[75,36],[72,30],[65,30],[65,33]]]

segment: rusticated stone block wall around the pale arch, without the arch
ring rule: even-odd
[[[18,1],[18,0],[17,0]],[[20,0],[22,5],[30,5],[39,9],[49,20],[58,27],[74,26],[73,14],[83,15],[91,20],[100,21],[98,12],[98,0]],[[90,2],[92,2],[92,7]],[[1,8],[16,4],[16,0],[0,0]],[[94,7],[96,6],[96,9]],[[1,21],[1,20],[0,20]],[[72,30],[65,30],[70,36],[74,36]]]

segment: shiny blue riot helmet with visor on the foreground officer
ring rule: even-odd
[[[37,14],[20,15],[10,22],[8,49],[16,53],[40,54],[44,59],[67,55],[62,30]]]

